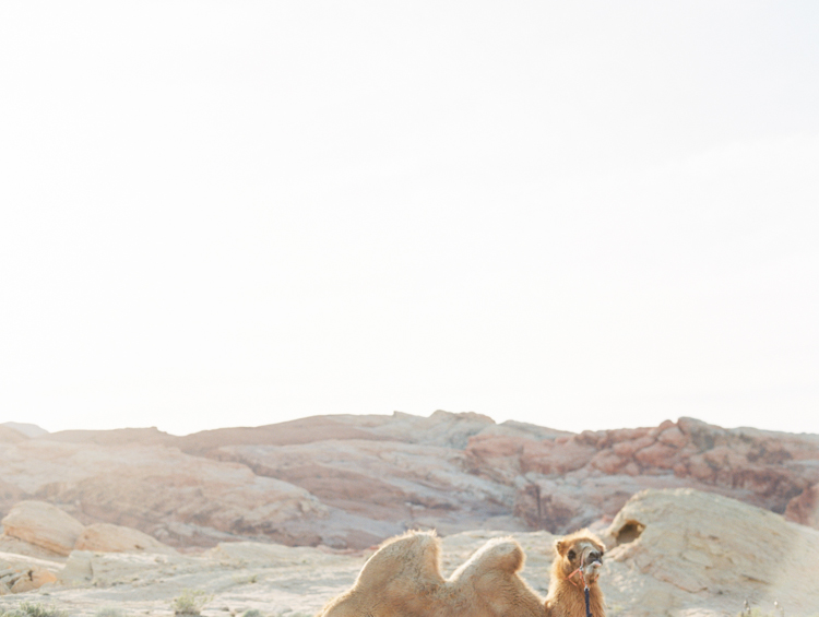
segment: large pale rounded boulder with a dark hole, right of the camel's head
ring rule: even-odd
[[[739,598],[786,614],[816,610],[811,576],[819,531],[773,512],[691,489],[646,490],[615,517],[610,588],[632,605],[630,615],[673,614],[699,604],[735,615]],[[638,584],[634,572],[653,581]],[[642,588],[642,589],[641,589]]]

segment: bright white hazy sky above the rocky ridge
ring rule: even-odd
[[[819,432],[819,3],[0,4],[0,422]]]

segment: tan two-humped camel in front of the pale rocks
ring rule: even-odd
[[[602,553],[593,536],[569,538],[575,536],[571,545],[558,542],[553,577],[562,572],[565,562],[577,561],[577,555],[591,558],[593,549]],[[570,550],[574,555],[568,558]],[[575,613],[573,596],[559,585],[554,597],[549,594],[550,605],[538,596],[518,574],[524,561],[518,542],[494,538],[444,579],[435,532],[407,532],[387,541],[364,565],[352,589],[331,600],[317,617],[585,617],[584,605]],[[586,568],[595,590],[598,567],[597,561]],[[604,617],[600,590],[594,597],[600,600],[594,617]],[[566,609],[563,602],[572,609]]]

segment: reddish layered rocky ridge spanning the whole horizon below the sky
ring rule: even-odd
[[[604,529],[646,488],[695,488],[819,526],[819,436],[690,418],[573,435],[446,412],[186,437],[0,426],[0,513],[48,501],[83,525],[134,527],[182,550],[364,548],[411,527]]]

